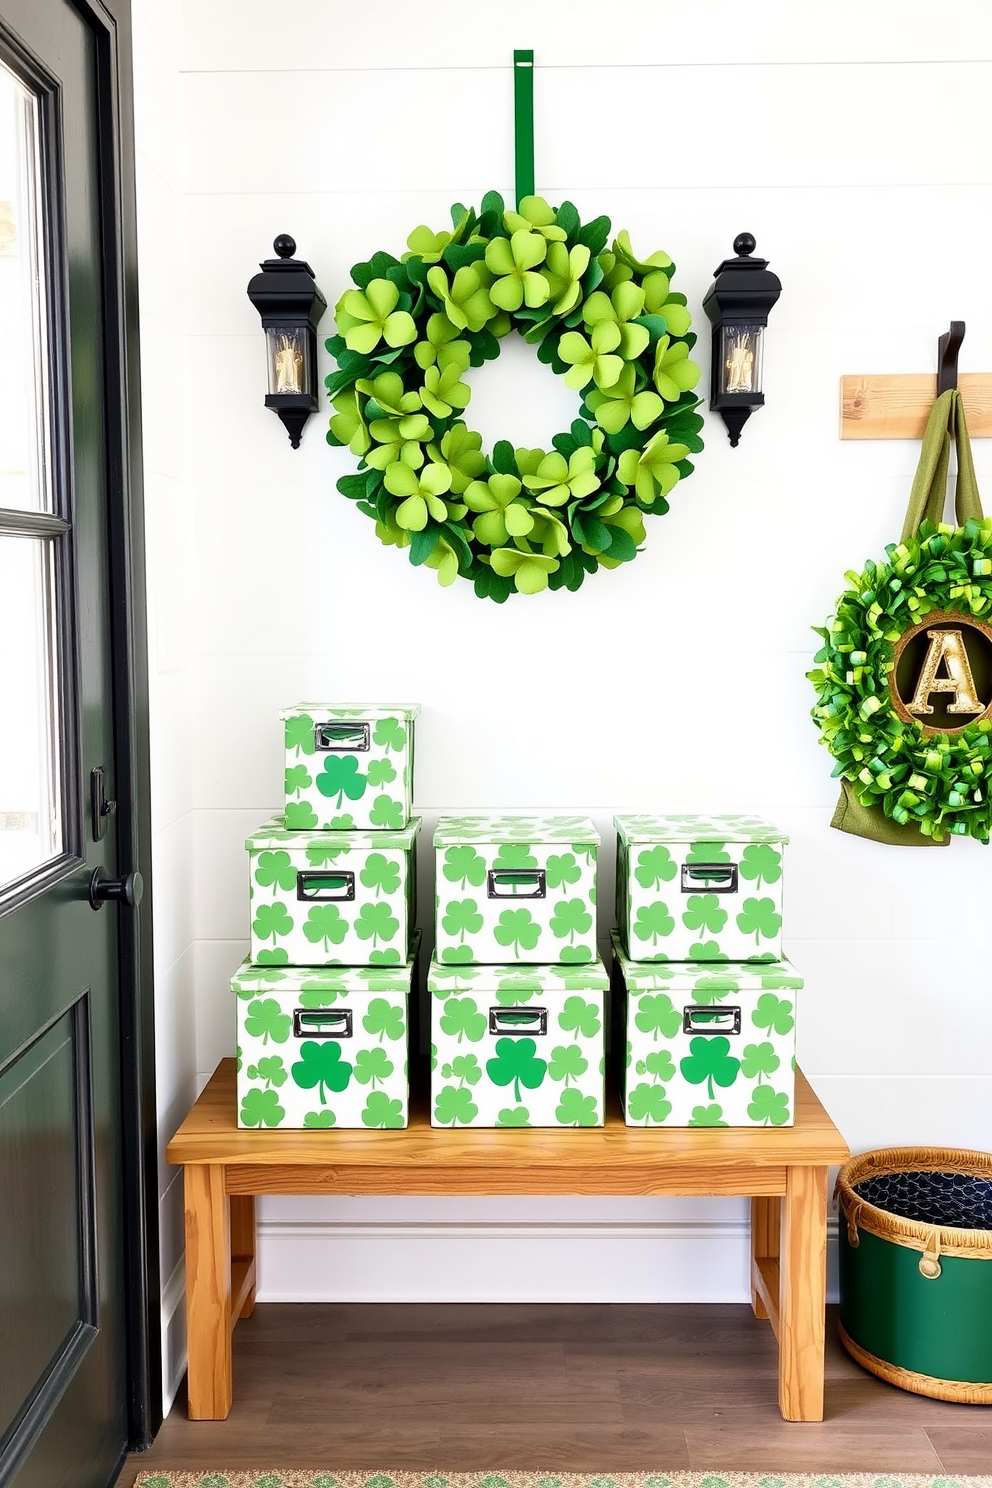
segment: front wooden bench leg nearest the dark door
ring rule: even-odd
[[[225,1170],[187,1162],[186,1344],[189,1418],[223,1421],[231,1414],[231,1210]]]

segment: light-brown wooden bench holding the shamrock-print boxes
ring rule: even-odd
[[[794,1126],[625,1126],[613,1106],[598,1128],[434,1129],[415,1103],[406,1131],[241,1131],[222,1059],[167,1149],[186,1170],[190,1420],[231,1411],[259,1193],[706,1193],[750,1196],[751,1303],[778,1339],[779,1408],[822,1421],[827,1168],[848,1155],[799,1070]]]

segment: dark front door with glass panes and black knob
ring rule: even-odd
[[[88,7],[0,0],[0,1488],[106,1488],[144,1369],[107,55]]]

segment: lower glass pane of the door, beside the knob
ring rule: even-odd
[[[0,894],[62,851],[52,559],[0,533]]]

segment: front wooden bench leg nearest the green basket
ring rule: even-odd
[[[779,1265],[778,1403],[787,1421],[822,1421],[825,1168],[787,1168]]]

